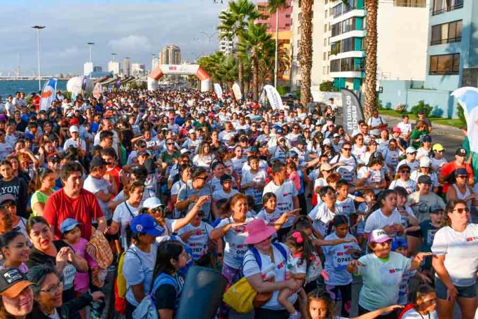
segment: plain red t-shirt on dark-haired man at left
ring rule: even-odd
[[[80,230],[82,237],[89,241],[91,237],[91,221],[103,217],[103,212],[93,193],[88,190],[80,190],[80,195],[72,199],[65,195],[63,188],[54,192],[47,199],[43,208],[43,217],[54,228],[55,239],[62,239],[60,225],[67,218],[76,219],[82,223]]]

